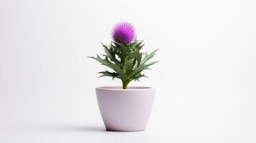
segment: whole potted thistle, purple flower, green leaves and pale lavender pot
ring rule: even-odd
[[[120,79],[122,87],[97,87],[98,106],[107,130],[141,131],[145,129],[151,113],[155,89],[152,87],[128,87],[131,81],[146,77],[142,71],[157,61],[149,60],[156,51],[143,53],[143,41],[136,38],[132,24],[116,24],[112,31],[113,41],[107,46],[103,57],[90,56],[112,71],[101,71],[100,77]]]

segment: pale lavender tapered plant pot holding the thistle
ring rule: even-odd
[[[100,114],[107,130],[144,130],[151,114],[155,89],[151,87],[96,88]]]

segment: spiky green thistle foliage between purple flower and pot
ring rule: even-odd
[[[112,77],[120,79],[123,84],[128,84],[131,81],[138,81],[141,77],[146,77],[141,74],[142,71],[149,69],[150,66],[156,64],[157,61],[148,61],[156,55],[156,51],[143,54],[141,52],[144,46],[142,41],[135,40],[130,44],[118,44],[111,42],[109,46],[102,44],[105,54],[103,57],[90,56],[90,58],[99,61],[102,65],[108,66],[111,71],[101,71],[100,77]]]

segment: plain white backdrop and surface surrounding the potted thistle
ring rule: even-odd
[[[0,142],[256,142],[256,2],[0,1]],[[143,132],[105,132],[95,87],[114,24],[160,49]]]

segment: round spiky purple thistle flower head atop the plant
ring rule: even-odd
[[[112,38],[119,44],[129,44],[135,38],[135,29],[127,22],[116,24],[112,31]]]

